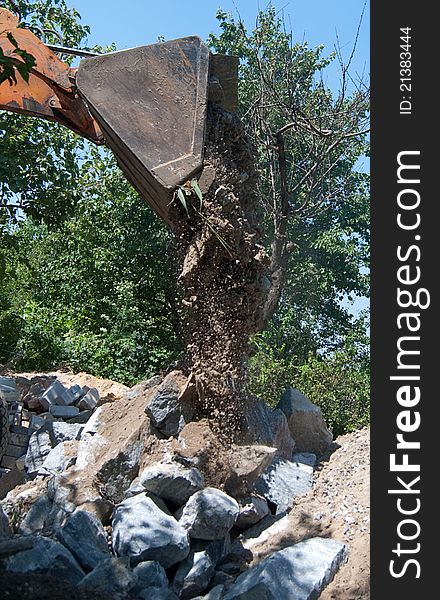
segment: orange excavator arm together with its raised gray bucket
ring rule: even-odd
[[[62,123],[105,143],[126,178],[175,229],[176,187],[203,170],[207,105],[237,108],[238,59],[212,55],[190,36],[63,63],[18,19],[0,8],[0,48],[20,60],[8,39],[35,58],[29,81],[0,85],[0,109]]]

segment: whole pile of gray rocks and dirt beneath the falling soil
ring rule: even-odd
[[[0,569],[56,576],[114,600],[306,600],[345,560],[344,544],[311,538],[249,567],[247,530],[269,531],[292,509],[312,485],[311,450],[325,444],[314,433],[317,445],[294,453],[285,399],[260,407],[254,443],[226,447],[206,421],[191,422],[180,372],[99,408],[89,390],[58,384],[38,394],[38,407],[29,391],[15,400],[41,421],[27,422],[26,482],[0,503]],[[72,406],[89,419],[51,411]]]

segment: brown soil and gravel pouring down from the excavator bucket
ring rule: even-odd
[[[247,398],[249,339],[263,323],[269,259],[259,245],[257,174],[243,125],[211,106],[206,139],[211,177],[200,179],[202,199],[189,189],[186,209],[179,207],[181,320],[199,417],[232,437]]]

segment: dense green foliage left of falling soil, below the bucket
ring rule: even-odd
[[[15,328],[0,358],[134,383],[180,351],[169,234],[101,152],[80,181],[87,195],[57,229],[28,218],[9,234],[2,293]]]

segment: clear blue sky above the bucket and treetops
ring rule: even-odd
[[[365,0],[274,0],[282,12],[295,40],[307,41],[314,47],[324,44],[327,53],[339,44],[345,59],[351,54],[353,42]],[[118,49],[151,44],[159,35],[165,39],[198,35],[206,39],[219,28],[215,14],[221,8],[233,15],[240,14],[252,28],[259,8],[266,2],[258,0],[67,0],[76,8],[83,23],[91,27],[89,44],[110,44]],[[352,73],[369,75],[369,2],[359,33]],[[337,85],[336,70],[330,72],[330,85]]]

